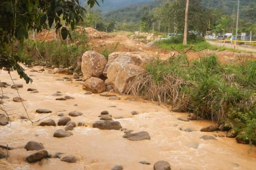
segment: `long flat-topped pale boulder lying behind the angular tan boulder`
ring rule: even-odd
[[[107,71],[112,62],[122,62],[142,66],[145,63],[150,63],[153,56],[146,52],[113,52],[108,56],[108,63],[103,70],[103,75],[107,76]]]

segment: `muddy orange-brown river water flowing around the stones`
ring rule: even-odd
[[[11,75],[15,79],[14,83],[24,85],[18,92],[26,100],[23,104],[33,121],[56,113],[46,119],[54,119],[57,123],[60,118],[58,113],[67,115],[70,111],[80,111],[83,115],[71,117],[71,120],[76,123],[84,122],[87,127],[74,128],[72,136],[55,138],[54,131],[64,127],[32,126],[30,121],[18,119],[22,114],[27,117],[27,114],[22,103],[12,101],[12,98],[18,95],[17,91],[3,87],[4,95],[10,97],[3,101],[12,122],[8,126],[0,126],[0,144],[8,144],[16,149],[9,151],[8,160],[0,160],[1,170],[109,170],[117,164],[122,165],[124,170],[153,170],[154,163],[159,160],[168,161],[172,170],[256,169],[255,146],[251,146],[251,152],[248,153],[250,146],[238,144],[233,138],[200,139],[203,135],[224,134],[200,132],[202,127],[214,125],[213,122],[182,122],[177,118],[184,114],[170,112],[165,106],[157,106],[151,102],[124,100],[127,96],[120,96],[121,100],[117,101],[101,97],[99,94],[84,95],[85,91],[78,81],[55,81],[66,75],[49,74],[47,69],[43,73],[29,70],[26,72],[28,75],[35,75],[32,77],[32,84],[25,84],[16,72],[11,72]],[[13,84],[6,71],[1,71],[0,79],[2,82]],[[39,93],[30,93],[28,88],[36,88]],[[51,96],[57,91],[75,99],[57,101],[57,96]],[[75,104],[78,106],[74,106]],[[36,114],[35,111],[39,108],[49,109],[53,113]],[[130,141],[122,137],[123,131],[92,128],[91,124],[99,120],[98,115],[103,110],[108,110],[115,118],[113,120],[119,121],[123,128],[133,129],[134,132],[148,131],[151,140]],[[140,114],[132,116],[132,111]],[[194,131],[185,132],[180,128],[191,128]],[[24,146],[31,140],[43,143],[50,154],[63,152],[77,155],[79,161],[67,163],[60,159],[49,159],[47,165],[40,166],[38,162],[29,164],[25,158],[34,151],[26,151]],[[197,149],[190,147],[196,143],[199,144]],[[151,165],[140,164],[140,161],[148,161]]]

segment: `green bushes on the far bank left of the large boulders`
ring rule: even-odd
[[[22,55],[36,63],[45,63],[47,65],[76,66],[77,57],[81,57],[88,50],[88,37],[85,33],[79,34],[72,32],[76,44],[66,41],[37,41],[28,39],[24,42]],[[70,40],[69,40],[70,41]]]

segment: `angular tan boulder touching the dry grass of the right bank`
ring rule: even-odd
[[[123,93],[128,81],[145,70],[134,64],[113,62],[107,72],[109,83],[116,93]]]

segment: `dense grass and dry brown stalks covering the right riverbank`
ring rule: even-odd
[[[146,67],[127,92],[147,100],[193,111],[202,119],[229,123],[244,140],[256,141],[256,61],[223,65],[215,55],[189,61],[179,55]]]

